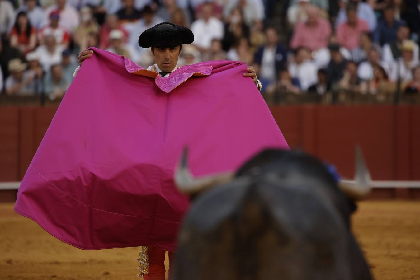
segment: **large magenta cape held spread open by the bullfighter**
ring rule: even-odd
[[[173,183],[184,146],[194,175],[235,170],[286,141],[242,62],[170,77],[93,48],[18,191],[15,210],[81,249],[173,251],[189,199]],[[208,76],[206,76],[208,75]]]

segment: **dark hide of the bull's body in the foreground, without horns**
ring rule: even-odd
[[[171,279],[370,280],[353,209],[317,159],[266,150],[194,201]]]

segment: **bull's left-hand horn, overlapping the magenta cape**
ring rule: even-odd
[[[194,194],[203,191],[213,185],[226,183],[233,178],[233,173],[220,173],[200,178],[194,178],[187,165],[188,149],[185,147],[182,152],[181,160],[176,167],[174,176],[175,184],[178,189],[186,194]]]

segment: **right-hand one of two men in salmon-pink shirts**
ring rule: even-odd
[[[337,28],[337,38],[341,46],[348,50],[353,50],[359,46],[359,38],[362,32],[369,32],[367,21],[357,18],[356,6],[349,4],[346,8],[347,21]]]

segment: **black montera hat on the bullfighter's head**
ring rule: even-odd
[[[143,31],[139,37],[140,47],[168,48],[194,42],[194,34],[188,28],[162,22]]]

